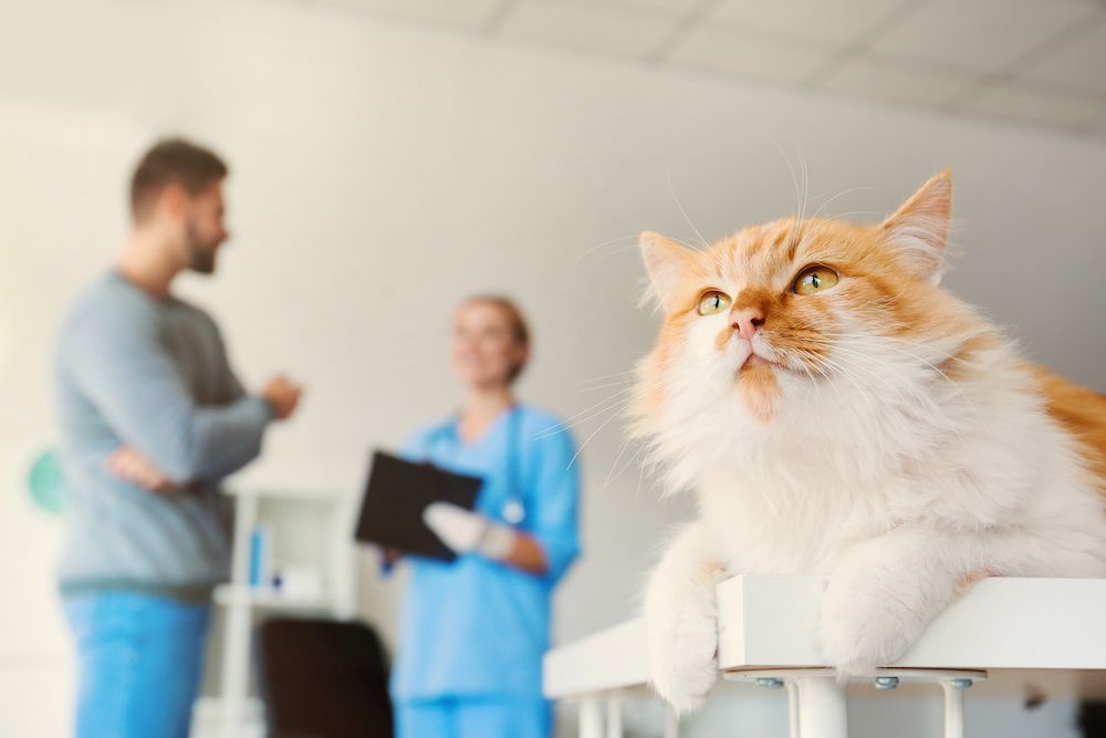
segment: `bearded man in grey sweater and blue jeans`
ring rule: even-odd
[[[219,482],[300,399],[282,376],[249,395],[211,318],[171,292],[182,271],[215,271],[227,171],[188,142],[154,146],[134,173],[134,228],[115,269],[62,328],[61,591],[80,658],[79,738],[188,735],[211,589],[229,568]]]

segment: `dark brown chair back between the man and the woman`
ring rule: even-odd
[[[387,656],[369,626],[280,617],[257,637],[270,738],[393,738]]]

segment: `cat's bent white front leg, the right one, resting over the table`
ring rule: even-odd
[[[848,549],[822,599],[822,655],[845,676],[901,656],[972,571],[971,545],[933,529],[898,528]]]

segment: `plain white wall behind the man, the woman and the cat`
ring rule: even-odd
[[[22,477],[55,437],[63,306],[112,259],[128,169],[166,132],[233,167],[231,248],[218,278],[182,292],[219,316],[250,383],[286,370],[310,387],[253,479],[355,488],[367,447],[450,412],[447,316],[474,290],[508,291],[533,319],[525,398],[572,415],[611,396],[619,386],[587,382],[630,368],[655,328],[635,306],[633,235],[695,238],[670,185],[718,237],[794,210],[796,150],[812,195],[870,188],[831,207],[866,217],[951,165],[964,257],[948,283],[1035,357],[1106,389],[1100,143],[313,6],[23,6],[0,11],[0,320],[14,349],[0,370],[3,735],[65,729],[58,530],[24,501]],[[561,591],[563,638],[629,614],[664,530],[689,513],[659,502],[635,465],[612,474],[620,424],[601,429],[607,417],[576,429],[589,438],[587,554]],[[393,633],[396,584],[366,567],[364,591],[366,614]]]

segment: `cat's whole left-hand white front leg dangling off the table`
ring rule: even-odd
[[[726,571],[702,522],[685,528],[665,551],[645,593],[653,685],[678,713],[699,707],[717,678],[714,586]]]

